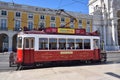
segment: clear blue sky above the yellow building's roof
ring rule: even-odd
[[[64,9],[66,11],[88,14],[89,0],[0,0],[42,8]]]

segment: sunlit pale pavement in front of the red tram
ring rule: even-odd
[[[0,80],[120,80],[120,63],[58,66],[15,71],[0,54]]]

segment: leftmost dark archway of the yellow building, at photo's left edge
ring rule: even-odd
[[[8,35],[2,33],[0,34],[0,52],[7,52],[8,48]]]

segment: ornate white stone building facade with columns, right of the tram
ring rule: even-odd
[[[105,50],[120,49],[120,0],[89,0],[93,31],[98,30]]]

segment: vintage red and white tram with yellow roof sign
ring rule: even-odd
[[[84,29],[47,28],[17,37],[18,67],[57,61],[101,61],[100,37]]]

